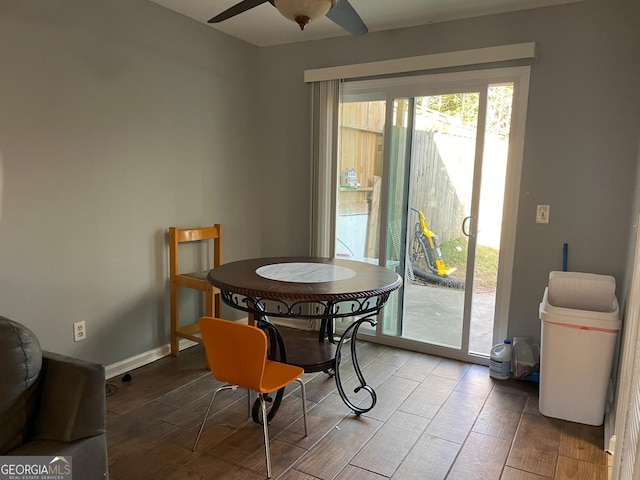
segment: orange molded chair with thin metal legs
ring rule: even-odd
[[[251,390],[253,390],[260,399],[267,477],[271,478],[269,427],[264,396],[267,393],[280,390],[294,381],[298,382],[302,390],[302,414],[306,437],[308,435],[307,397],[304,382],[301,380],[304,370],[294,365],[268,360],[267,336],[257,327],[213,317],[202,317],[199,324],[211,373],[226,385],[213,393],[209,408],[207,408],[198,436],[193,444],[193,451],[196,451],[198,440],[200,440],[204,424],[211,411],[211,405],[213,405],[213,400],[218,392],[221,390],[235,392],[238,387],[246,388],[249,390],[250,403]]]

